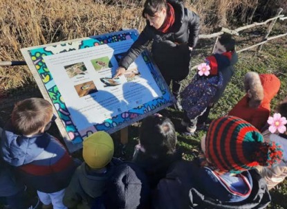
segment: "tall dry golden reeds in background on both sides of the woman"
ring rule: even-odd
[[[246,19],[258,0],[184,0],[201,16],[201,33]],[[266,0],[267,1],[267,0]],[[276,1],[269,0],[268,2]],[[2,0],[0,1],[0,61],[23,60],[20,48],[120,30],[142,30],[140,0]],[[249,12],[249,13],[248,13]],[[242,23],[239,23],[242,24]],[[0,67],[0,90],[33,82],[26,66]]]

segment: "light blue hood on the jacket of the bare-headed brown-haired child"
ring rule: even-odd
[[[15,134],[11,129],[3,131],[1,138],[2,158],[14,166],[31,163],[50,142],[49,134],[26,137]]]

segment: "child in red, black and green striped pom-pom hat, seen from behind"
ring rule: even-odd
[[[264,142],[258,129],[234,116],[212,121],[201,147],[205,161],[197,174],[197,188],[225,202],[248,199],[254,185],[248,170],[279,163],[283,156],[277,144]]]

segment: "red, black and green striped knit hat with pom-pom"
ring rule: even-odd
[[[210,124],[205,156],[222,172],[240,173],[258,165],[279,163],[283,151],[274,142],[263,142],[261,133],[246,120],[225,116]]]

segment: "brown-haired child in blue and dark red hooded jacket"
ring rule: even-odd
[[[4,161],[16,167],[19,180],[37,190],[44,207],[63,209],[64,191],[76,166],[59,140],[46,133],[54,120],[53,107],[47,100],[18,102],[4,127],[1,154]]]

